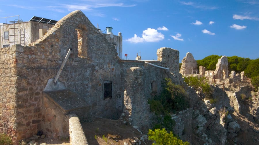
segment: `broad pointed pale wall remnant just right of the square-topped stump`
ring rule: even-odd
[[[193,54],[190,52],[186,53],[186,56],[182,59],[182,66],[180,69],[180,73],[185,76],[188,74],[193,74],[198,72],[197,70],[197,62],[193,58]]]

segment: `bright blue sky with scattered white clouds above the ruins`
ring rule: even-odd
[[[121,32],[129,59],[141,51],[142,60],[157,60],[160,47],[179,50],[180,61],[187,52],[196,60],[212,54],[259,58],[259,0],[0,0],[0,17],[23,21],[59,20],[77,9],[101,30]]]

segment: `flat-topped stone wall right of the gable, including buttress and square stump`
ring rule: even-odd
[[[148,61],[152,64],[167,67],[169,70],[151,66],[138,60],[121,60],[121,81],[124,86],[123,120],[142,132],[151,128],[153,113],[147,100],[159,95],[164,78],[171,78],[176,84],[182,82],[179,70],[179,51],[171,48],[157,50],[158,61]],[[125,115],[125,116],[124,116]]]

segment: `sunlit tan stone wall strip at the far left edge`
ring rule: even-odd
[[[17,105],[16,53],[14,47],[1,48],[0,53],[0,133],[16,140]]]

